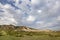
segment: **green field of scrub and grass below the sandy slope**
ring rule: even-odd
[[[12,32],[0,35],[0,40],[60,40],[60,33],[46,32]]]

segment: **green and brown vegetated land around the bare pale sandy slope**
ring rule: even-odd
[[[60,40],[60,31],[31,32],[22,29],[28,28],[26,26],[0,25],[0,40]]]

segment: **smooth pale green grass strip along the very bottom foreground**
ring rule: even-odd
[[[0,40],[60,40],[60,37],[50,37],[48,35],[15,37],[7,35],[0,36]]]

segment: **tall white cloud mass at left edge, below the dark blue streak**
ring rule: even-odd
[[[6,4],[3,5],[0,3],[0,9],[4,12],[0,12],[0,24],[17,24],[16,20],[14,19],[13,15],[10,13],[9,9],[14,9],[11,5]]]

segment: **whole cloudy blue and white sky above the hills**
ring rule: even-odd
[[[0,0],[0,25],[60,30],[60,0]]]

